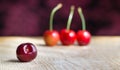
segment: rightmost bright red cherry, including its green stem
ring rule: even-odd
[[[82,9],[80,7],[78,8],[78,13],[82,21],[82,30],[79,30],[77,32],[77,41],[79,45],[88,45],[91,40],[91,34],[86,30],[85,18],[83,16]]]

